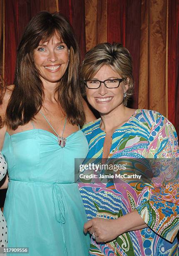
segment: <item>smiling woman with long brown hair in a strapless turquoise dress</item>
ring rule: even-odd
[[[28,247],[32,256],[88,255],[74,174],[74,159],[88,152],[79,128],[85,113],[78,64],[77,41],[66,18],[35,15],[17,50],[1,129],[10,179],[4,207],[8,246]]]

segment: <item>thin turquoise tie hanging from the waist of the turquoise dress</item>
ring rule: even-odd
[[[55,198],[57,201],[58,210],[55,207]],[[65,256],[67,256],[67,248],[65,243],[65,233],[64,233],[64,226],[63,226],[65,224],[65,207],[62,199],[62,190],[60,188],[60,185],[57,183],[52,184],[52,199],[53,199],[53,207],[55,212],[55,219],[61,225]]]

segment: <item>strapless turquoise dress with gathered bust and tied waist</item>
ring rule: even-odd
[[[21,255],[29,256],[89,255],[90,237],[83,233],[87,218],[74,182],[74,159],[87,152],[80,130],[67,137],[64,148],[42,129],[6,133],[8,247],[28,247],[29,254]]]

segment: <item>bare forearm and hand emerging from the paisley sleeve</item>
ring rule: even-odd
[[[118,236],[128,231],[147,228],[147,224],[141,218],[137,210],[127,213],[115,220],[94,218],[84,225],[84,232],[94,233],[98,243],[113,241]]]

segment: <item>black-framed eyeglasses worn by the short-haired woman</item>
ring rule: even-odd
[[[107,79],[104,81],[99,81],[99,80],[85,80],[84,83],[87,88],[89,89],[98,89],[101,84],[103,83],[105,87],[108,89],[113,89],[113,88],[118,88],[119,84],[124,80],[124,78],[116,78],[116,79]]]

